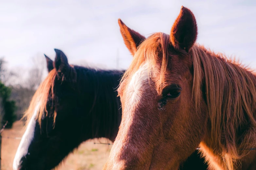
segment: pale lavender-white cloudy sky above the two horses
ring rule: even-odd
[[[9,69],[29,68],[57,48],[70,64],[126,69],[132,56],[118,18],[146,37],[169,34],[182,5],[196,17],[198,43],[256,69],[255,0],[1,0],[0,57]]]

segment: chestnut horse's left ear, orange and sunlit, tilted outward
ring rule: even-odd
[[[124,22],[118,19],[120,26],[120,32],[123,36],[124,42],[131,55],[134,56],[137,51],[137,47],[145,40],[145,36],[140,35],[138,32],[128,28]]]

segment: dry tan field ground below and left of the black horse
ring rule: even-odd
[[[17,121],[12,129],[6,129],[2,132],[2,150],[1,166],[2,170],[12,170],[12,161],[19,146],[20,139],[13,137],[22,137],[22,122]],[[10,138],[7,138],[10,137]],[[101,143],[109,143],[107,139],[99,139]],[[69,154],[67,159],[60,164],[57,170],[100,170],[107,161],[111,145],[94,144],[98,140],[86,141],[78,149]]]

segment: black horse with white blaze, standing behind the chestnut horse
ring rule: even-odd
[[[124,71],[69,65],[65,54],[55,51],[55,62],[45,56],[49,74],[26,111],[26,132],[14,170],[52,169],[83,141],[114,141],[117,135],[122,113],[115,88]],[[203,161],[195,152],[183,168],[205,170]]]

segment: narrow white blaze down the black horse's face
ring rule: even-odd
[[[28,152],[28,147],[29,147],[29,145],[31,144],[31,141],[34,138],[34,132],[35,132],[35,126],[36,126],[35,118],[38,114],[39,106],[40,106],[40,104],[36,105],[35,110],[34,110],[34,114],[33,114],[31,120],[29,121],[29,123],[27,125],[27,128],[26,128],[26,131],[25,131],[24,135],[22,136],[20,145],[17,149],[16,155],[15,155],[14,160],[13,160],[12,168],[14,170],[18,169],[18,166],[20,165],[21,158],[26,156],[26,154]]]

